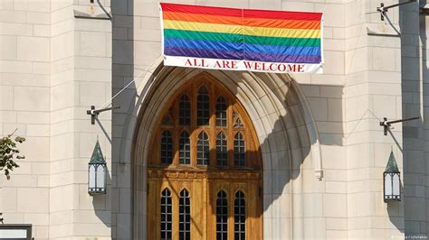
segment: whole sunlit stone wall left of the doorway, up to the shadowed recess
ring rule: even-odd
[[[111,115],[91,125],[86,110],[111,97],[111,23],[75,11],[103,13],[90,1],[0,3],[0,134],[27,138],[20,168],[0,180],[0,212],[36,239],[110,238],[110,188],[91,197],[87,182],[97,139],[111,169]]]

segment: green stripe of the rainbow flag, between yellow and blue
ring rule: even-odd
[[[219,33],[219,32],[198,32],[175,29],[164,29],[165,38],[181,38],[191,40],[207,40],[216,42],[243,42],[242,34]],[[279,38],[262,36],[245,36],[245,42],[261,45],[283,45],[319,47],[320,39],[317,38]]]

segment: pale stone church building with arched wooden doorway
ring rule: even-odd
[[[192,239],[212,239],[219,232],[217,199],[224,199],[223,233],[230,238],[237,204],[247,212],[245,239],[427,236],[424,0],[388,9],[384,21],[377,6],[397,0],[171,2],[324,13],[324,73],[164,66],[154,0],[0,0],[0,134],[17,128],[27,139],[20,167],[11,180],[0,178],[5,224],[31,224],[34,239],[155,239],[160,208],[172,208],[170,230],[178,239],[178,200],[185,199]],[[195,113],[200,86],[208,88],[212,122],[216,94],[224,96],[224,158],[231,162],[234,143],[243,142],[253,159],[243,171],[157,166],[161,148],[182,143],[181,94],[190,96]],[[90,106],[110,104],[120,108],[91,125]],[[412,116],[420,119],[392,125],[387,135],[379,125],[383,117]],[[188,129],[189,161],[195,162],[197,140],[215,151],[222,129],[211,126]],[[163,129],[170,129],[171,142]],[[202,131],[207,136],[200,139]],[[91,196],[88,162],[97,140],[108,189]],[[221,162],[213,151],[209,159]],[[391,151],[402,200],[385,203]],[[180,153],[172,152],[175,161]]]

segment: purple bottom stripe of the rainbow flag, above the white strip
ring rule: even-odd
[[[320,55],[282,55],[272,53],[257,53],[241,51],[219,51],[219,50],[201,50],[166,47],[164,54],[168,56],[194,57],[194,58],[209,58],[223,60],[256,60],[256,61],[271,61],[271,62],[288,62],[288,63],[320,63]]]

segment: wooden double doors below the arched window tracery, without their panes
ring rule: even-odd
[[[148,178],[148,239],[160,239],[160,198],[168,188],[173,203],[173,240],[179,239],[180,192],[187,189],[191,202],[191,239],[216,239],[217,193],[224,190],[228,199],[228,239],[234,239],[234,199],[241,190],[246,202],[246,239],[262,239],[262,205],[259,180],[207,180]]]

